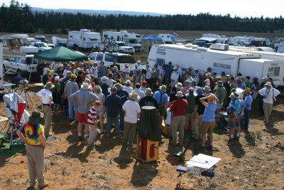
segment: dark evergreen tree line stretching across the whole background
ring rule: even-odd
[[[67,33],[80,28],[102,31],[104,28],[151,29],[173,31],[273,32],[283,30],[282,16],[275,18],[232,17],[202,13],[197,15],[130,16],[126,14],[71,14],[54,11],[33,12],[28,4],[11,0],[0,7],[0,31],[16,33]]]

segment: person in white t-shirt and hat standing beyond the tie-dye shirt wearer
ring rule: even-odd
[[[48,82],[43,86],[42,90],[36,93],[36,95],[40,97],[40,101],[42,103],[41,107],[45,115],[45,137],[52,135],[50,133],[50,127],[53,117],[53,109],[51,108],[53,103],[53,93],[51,91],[53,88],[54,85],[51,82]]]

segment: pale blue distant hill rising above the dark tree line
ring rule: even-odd
[[[107,10],[86,10],[86,9],[43,9],[38,7],[32,7],[33,12],[60,12],[60,13],[71,13],[77,14],[78,12],[81,14],[100,14],[100,15],[109,15],[109,14],[126,14],[131,16],[142,16],[142,15],[149,15],[149,16],[160,16],[162,14],[156,13],[148,13],[148,12],[136,12],[136,11],[107,11]]]

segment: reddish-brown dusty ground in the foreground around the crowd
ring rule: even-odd
[[[40,90],[30,85],[31,95]],[[28,110],[38,109],[40,102],[32,97]],[[215,189],[284,189],[284,122],[283,98],[278,97],[271,122],[263,125],[253,107],[248,134],[241,134],[239,142],[228,144],[228,134],[214,135],[214,149],[204,154],[221,158],[217,164],[211,186]],[[4,110],[3,102],[0,109]],[[6,115],[5,112],[2,112]],[[61,114],[61,113],[60,113]],[[54,116],[52,132],[57,140],[48,142],[45,149],[45,177],[47,189],[200,189],[197,179],[182,177],[177,188],[175,167],[178,162],[173,153],[180,149],[169,146],[163,137],[158,162],[138,162],[135,154],[121,149],[122,139],[109,139],[100,135],[94,149],[77,142],[74,123],[65,116]],[[188,140],[185,140],[186,145]],[[200,144],[198,144],[199,146]],[[184,148],[184,147],[183,147]],[[191,147],[191,149],[193,149]],[[186,159],[192,157],[188,150]],[[28,169],[25,154],[13,159],[0,158],[0,189],[26,189]],[[208,187],[208,183],[204,183]]]

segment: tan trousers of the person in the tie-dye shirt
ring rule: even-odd
[[[26,144],[26,156],[28,158],[30,186],[35,186],[36,179],[38,179],[38,186],[43,186],[45,184],[45,177],[43,175],[45,168],[43,147],[33,147]]]

